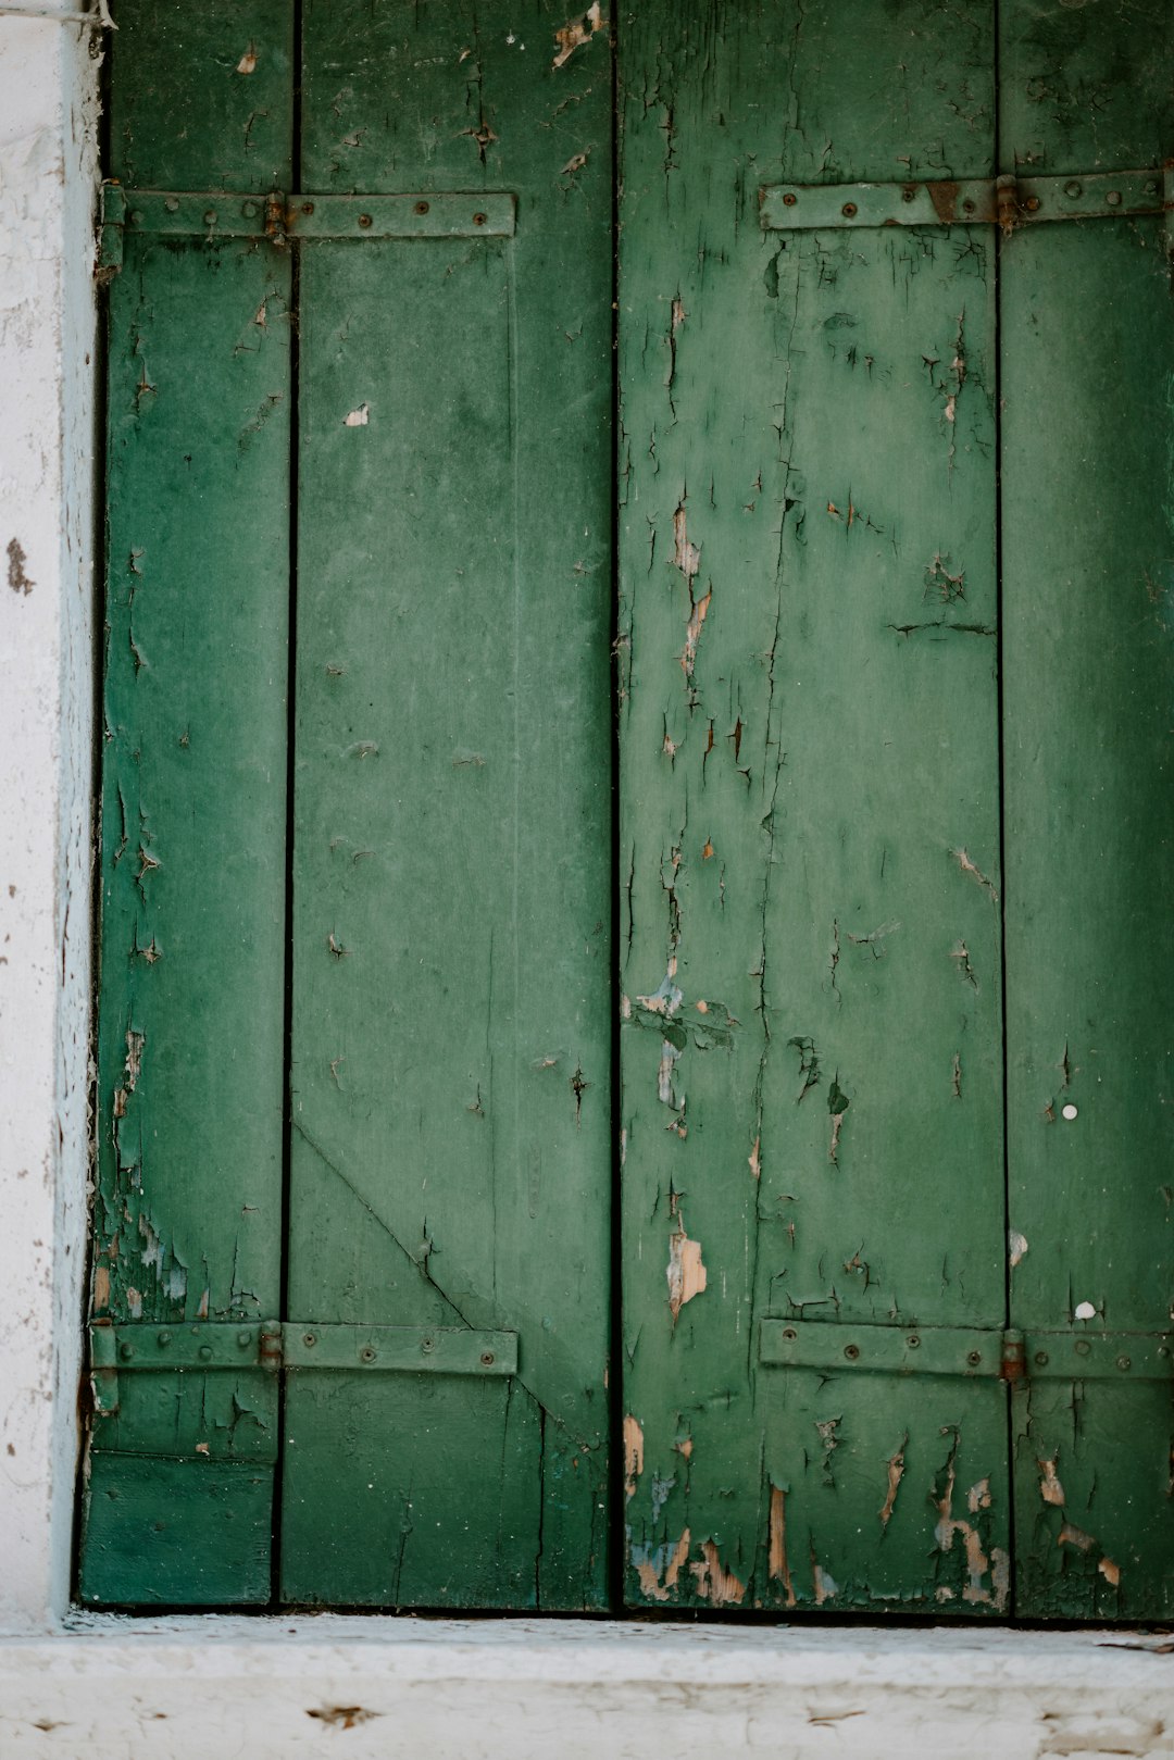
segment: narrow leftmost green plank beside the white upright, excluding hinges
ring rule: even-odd
[[[116,176],[287,176],[283,5],[118,23]],[[109,297],[93,1313],[255,1320],[282,1248],[289,262],[128,238]],[[273,1378],[121,1392],[90,1438],[83,1598],[268,1600]]]

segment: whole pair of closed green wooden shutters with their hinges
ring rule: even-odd
[[[998,12],[125,0],[84,1600],[1169,1614],[1174,118]]]

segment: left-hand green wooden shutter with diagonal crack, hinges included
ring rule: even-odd
[[[604,1600],[613,106],[561,23],[120,14],[88,1602]]]

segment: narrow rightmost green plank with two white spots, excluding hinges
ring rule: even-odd
[[[1005,169],[1160,167],[1169,9],[1002,9]],[[1158,220],[1002,252],[1012,1316],[1170,1325],[1174,516]],[[1128,1350],[1123,1350],[1128,1360]],[[1167,1617],[1169,1389],[1017,1397],[1019,1610]]]

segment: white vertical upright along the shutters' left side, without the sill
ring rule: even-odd
[[[69,1589],[93,752],[92,33],[0,16],[0,1626]]]

